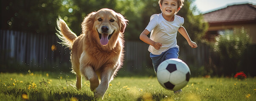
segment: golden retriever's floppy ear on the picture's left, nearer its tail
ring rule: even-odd
[[[84,18],[84,21],[81,24],[83,33],[85,33],[88,30],[91,30],[93,28],[95,14],[96,14],[96,12],[92,12]]]

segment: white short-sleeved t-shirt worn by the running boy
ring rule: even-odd
[[[176,39],[177,31],[183,24],[183,17],[176,14],[174,14],[174,21],[166,21],[162,13],[152,15],[146,29],[151,32],[150,39],[162,43],[162,47],[157,50],[152,45],[149,45],[149,52],[159,55],[170,48],[179,47]]]

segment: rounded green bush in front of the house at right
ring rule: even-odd
[[[234,29],[233,32],[226,30],[220,32],[221,35],[215,37],[212,50],[214,51],[213,59],[218,67],[218,72],[225,75],[232,75],[238,70],[245,70],[242,62],[247,58],[245,57],[248,43],[250,43],[249,34],[245,29]],[[219,59],[218,59],[219,58]],[[215,71],[217,72],[217,71]]]

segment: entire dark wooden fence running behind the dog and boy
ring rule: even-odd
[[[0,55],[1,60],[12,59],[11,64],[25,64],[33,68],[55,68],[58,66],[71,67],[70,50],[59,43],[60,40],[55,34],[42,35],[10,30],[0,30]],[[51,46],[56,45],[52,51]],[[152,61],[149,57],[148,46],[142,41],[125,42],[125,59],[123,70],[144,71],[152,68]],[[179,58],[188,65],[202,66],[209,56],[209,47],[200,44],[198,48],[192,49],[188,45],[180,46]],[[9,61],[6,61],[9,62]],[[1,64],[7,64],[7,63]]]

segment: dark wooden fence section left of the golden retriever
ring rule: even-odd
[[[70,50],[62,47],[57,41],[60,40],[55,34],[41,35],[0,30],[1,64],[25,64],[45,68],[69,62]],[[57,50],[52,51],[52,45],[56,45]]]

